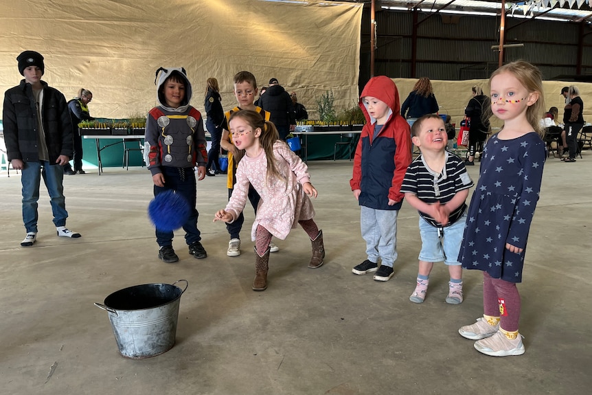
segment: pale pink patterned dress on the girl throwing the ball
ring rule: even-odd
[[[236,169],[236,184],[225,210],[235,221],[247,203],[249,183],[261,196],[255,222],[251,229],[251,240],[255,241],[258,225],[273,236],[284,240],[298,224],[315,216],[315,209],[304,193],[302,184],[310,182],[308,166],[284,142],[273,144],[275,166],[286,181],[275,177],[266,179],[267,157],[262,150],[257,157],[240,159]]]

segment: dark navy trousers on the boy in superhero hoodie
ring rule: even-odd
[[[165,186],[157,187],[155,185],[154,196],[167,190],[174,190],[187,199],[191,211],[187,217],[187,221],[183,223],[183,230],[186,232],[185,242],[187,242],[187,245],[190,245],[192,242],[200,241],[201,232],[197,229],[197,218],[199,213],[195,208],[197,191],[193,168],[171,168],[168,166],[162,166],[161,169],[165,180]],[[172,245],[173,237],[173,232],[166,232],[159,230],[158,228],[156,229],[156,241],[159,247]]]

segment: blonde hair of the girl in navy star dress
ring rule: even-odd
[[[526,119],[541,138],[545,137],[545,129],[540,126],[540,114],[543,113],[545,109],[545,99],[543,98],[543,73],[540,72],[538,67],[531,65],[524,60],[516,60],[516,62],[499,67],[499,69],[491,74],[491,77],[489,78],[490,87],[492,78],[502,73],[514,74],[514,77],[521,82],[523,87],[525,87],[529,93],[538,93],[538,100],[526,109]],[[489,106],[489,112],[491,113],[491,106]],[[493,114],[491,113],[490,115]]]

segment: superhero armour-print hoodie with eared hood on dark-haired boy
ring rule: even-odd
[[[159,74],[160,72],[160,74]],[[166,104],[163,85],[171,74],[185,82],[185,98],[178,108]],[[201,113],[190,106],[192,88],[182,67],[161,67],[157,70],[157,102],[146,118],[144,136],[145,160],[152,175],[161,173],[161,166],[192,168],[206,166],[205,132]]]

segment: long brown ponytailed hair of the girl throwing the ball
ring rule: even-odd
[[[265,151],[265,156],[267,158],[267,174],[266,178],[269,179],[270,177],[280,179],[286,181],[285,177],[277,170],[277,166],[275,166],[275,156],[273,155],[273,144],[276,142],[282,142],[280,140],[280,133],[277,132],[275,125],[272,122],[266,121],[263,119],[260,113],[257,111],[252,110],[240,110],[236,111],[236,113],[232,113],[230,115],[230,119],[228,123],[230,123],[234,118],[240,118],[244,122],[247,122],[251,128],[253,128],[253,132],[255,129],[260,128],[261,134],[259,135],[259,144],[261,144],[263,150]],[[286,144],[285,142],[282,142]],[[287,144],[286,144],[287,146]],[[244,156],[244,150],[239,151],[239,158]],[[236,158],[236,156],[235,156]],[[236,163],[238,163],[236,161]]]

